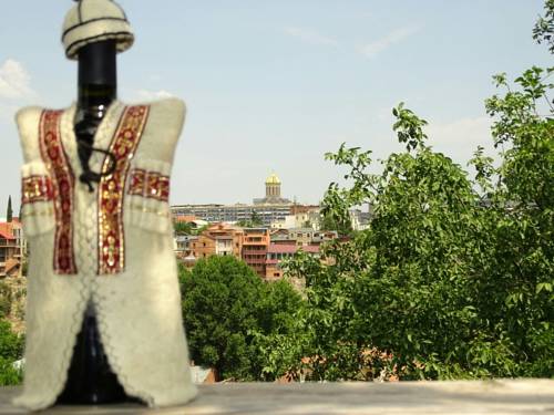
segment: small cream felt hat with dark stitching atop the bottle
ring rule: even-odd
[[[62,42],[65,55],[78,59],[78,51],[89,43],[114,39],[117,52],[126,51],[134,41],[123,9],[111,0],[80,0],[65,14]]]

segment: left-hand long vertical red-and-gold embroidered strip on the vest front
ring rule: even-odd
[[[75,178],[60,135],[62,111],[43,111],[39,126],[40,151],[51,177],[55,212],[54,272],[75,274],[73,252],[73,188]]]

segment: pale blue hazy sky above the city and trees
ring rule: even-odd
[[[86,0],[85,0],[86,1]],[[70,0],[2,1],[0,216],[19,206],[18,107],[66,107],[76,64],[61,25]],[[341,177],[340,143],[399,148],[400,101],[430,122],[435,148],[465,165],[490,146],[491,75],[552,64],[531,30],[543,0],[121,0],[134,46],[119,56],[120,98],[187,103],[172,204],[248,203],[275,170],[283,195],[317,203]],[[163,137],[161,137],[163,139]]]

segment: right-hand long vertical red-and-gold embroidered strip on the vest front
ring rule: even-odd
[[[115,155],[115,170],[103,176],[99,184],[99,274],[112,274],[125,268],[125,235],[123,229],[123,197],[131,159],[141,141],[150,106],[130,106],[123,111],[120,125],[110,144]],[[104,159],[102,172],[107,173],[110,160]]]

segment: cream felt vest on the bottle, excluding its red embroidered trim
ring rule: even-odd
[[[25,373],[16,405],[41,409],[55,402],[90,301],[110,365],[129,395],[150,406],[167,406],[186,403],[196,394],[181,315],[170,206],[164,198],[132,194],[129,188],[133,172],[168,178],[185,107],[174,98],[145,105],[148,114],[136,149],[129,155],[121,200],[124,264],[120,271],[105,274],[99,274],[100,186],[89,193],[79,180],[82,168],[73,133],[75,105],[60,114],[60,139],[74,176],[71,225],[75,273],[54,270],[54,239],[60,228],[54,201],[48,197],[27,200],[22,206],[30,249]],[[111,104],[96,132],[95,147],[110,148],[125,108],[117,101]],[[39,144],[42,114],[42,108],[28,107],[17,115],[23,180],[52,175]],[[93,153],[93,172],[101,170],[104,157]]]

